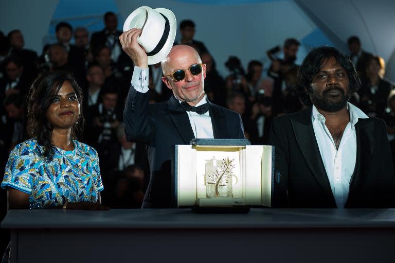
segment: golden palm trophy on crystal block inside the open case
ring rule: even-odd
[[[237,177],[232,173],[236,166],[232,164],[234,160],[229,160],[229,157],[227,157],[221,161],[212,157],[212,159],[206,161],[205,185],[207,198],[233,197],[232,177],[235,177],[235,184],[237,183]]]

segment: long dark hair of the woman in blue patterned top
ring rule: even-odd
[[[71,138],[76,139],[82,133],[84,117],[82,115],[82,90],[73,76],[67,72],[44,73],[33,82],[27,96],[29,136],[35,137],[38,144],[45,147],[42,156],[48,160],[52,159],[54,146],[51,141],[53,127],[46,118],[46,112],[65,81],[73,87],[80,103],[78,121],[71,127]]]

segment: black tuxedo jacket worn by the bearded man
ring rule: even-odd
[[[312,107],[273,120],[273,206],[336,207],[311,120]],[[358,119],[356,164],[345,207],[395,207],[395,176],[383,120]],[[280,173],[280,175],[278,174]]]

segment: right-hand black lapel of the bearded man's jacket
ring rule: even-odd
[[[355,124],[356,134],[356,162],[354,173],[350,180],[350,192],[361,179],[361,174],[369,172],[374,148],[373,121],[370,119],[358,119]]]

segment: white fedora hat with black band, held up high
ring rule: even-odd
[[[173,46],[176,20],[172,11],[165,8],[152,9],[142,6],[134,10],[123,24],[123,32],[141,28],[137,42],[148,56],[148,64],[156,64],[167,57]]]

